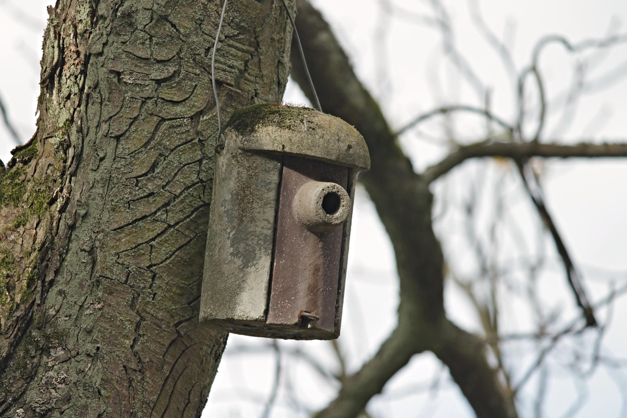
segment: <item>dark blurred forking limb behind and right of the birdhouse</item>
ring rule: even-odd
[[[429,350],[449,368],[478,417],[516,417],[512,394],[488,365],[482,341],[446,318],[443,257],[432,228],[428,181],[414,172],[329,25],[307,1],[296,3],[297,29],[322,109],[354,125],[370,149],[371,169],[360,180],[391,238],[401,289],[396,330],[319,415],[357,416],[413,354]],[[295,46],[292,51],[292,75],[311,99]]]

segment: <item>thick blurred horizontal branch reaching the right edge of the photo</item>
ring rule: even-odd
[[[451,171],[459,164],[470,158],[503,157],[522,159],[530,157],[543,158],[601,158],[601,157],[627,157],[626,142],[606,142],[594,144],[579,142],[574,145],[562,145],[539,142],[494,142],[491,140],[475,142],[474,144],[460,146],[449,153],[440,163],[426,168],[423,172],[425,181],[431,183],[440,176]]]

